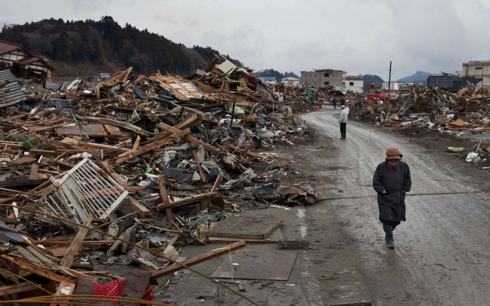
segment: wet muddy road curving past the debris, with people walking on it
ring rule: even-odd
[[[434,154],[430,143],[393,132],[350,120],[347,140],[338,140],[338,112],[304,115],[318,143],[280,154],[311,171],[318,179],[312,186],[326,198],[306,208],[308,238],[317,248],[308,256],[330,264],[305,267],[308,277],[358,273],[357,289],[369,294],[373,305],[490,304],[488,184],[467,165],[458,166],[461,161]],[[372,188],[388,147],[400,149],[412,177],[407,221],[394,232],[395,249],[386,247]],[[304,287],[310,305],[345,298],[336,294],[335,282],[322,281]]]

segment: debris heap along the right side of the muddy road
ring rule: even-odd
[[[370,88],[370,91],[374,89]],[[485,141],[490,132],[490,91],[468,85],[456,93],[445,88],[412,86],[412,90],[390,99],[389,104],[369,103],[364,94],[347,94],[352,117],[405,134],[433,131]],[[480,141],[472,148],[448,147],[449,152],[471,150],[466,160],[473,163],[486,161],[490,145]],[[465,155],[466,156],[466,155]],[[485,167],[487,168],[487,167]]]

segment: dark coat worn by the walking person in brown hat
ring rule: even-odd
[[[410,168],[406,163],[400,161],[396,172],[387,161],[378,165],[373,175],[373,188],[378,193],[381,222],[398,225],[406,220],[405,194],[402,191],[410,191],[411,186]],[[386,190],[385,194],[381,193],[383,190]]]

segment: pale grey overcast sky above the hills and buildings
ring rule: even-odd
[[[0,24],[109,15],[256,69],[331,68],[388,80],[490,60],[488,0],[0,0]]]

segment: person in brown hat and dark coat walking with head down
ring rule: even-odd
[[[383,223],[388,248],[395,248],[393,231],[401,221],[405,221],[405,193],[412,186],[410,168],[401,161],[402,157],[397,148],[387,149],[385,161],[378,165],[373,175],[373,188],[378,193],[379,220]]]

